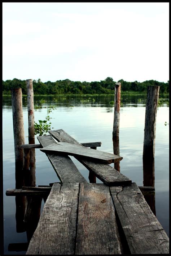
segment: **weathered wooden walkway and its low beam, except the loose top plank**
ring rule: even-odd
[[[49,133],[35,147],[56,143],[53,138],[83,147],[63,130]],[[27,255],[169,253],[168,236],[142,194],[145,187],[108,164],[75,155],[104,183],[89,184],[69,156],[45,152],[60,183],[6,190],[8,196],[47,197]]]

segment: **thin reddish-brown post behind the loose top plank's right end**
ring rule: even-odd
[[[119,122],[120,122],[120,93],[121,83],[115,84],[115,103],[114,103],[114,121],[113,121],[113,154],[118,155],[119,152]],[[120,162],[114,164],[114,168],[120,172]]]

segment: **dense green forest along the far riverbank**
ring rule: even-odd
[[[127,82],[123,79],[117,81],[121,83],[123,92],[146,92],[147,86],[160,86],[160,93],[169,93],[169,81],[167,83],[155,80],[144,81],[142,83],[134,81]],[[71,81],[69,79],[58,80],[56,82],[41,82],[40,79],[33,80],[33,89],[35,95],[59,95],[59,94],[113,94],[116,81],[107,77],[105,80],[94,82]],[[10,94],[11,88],[22,88],[23,95],[27,94],[26,80],[14,78],[13,80],[3,81],[3,94]]]

